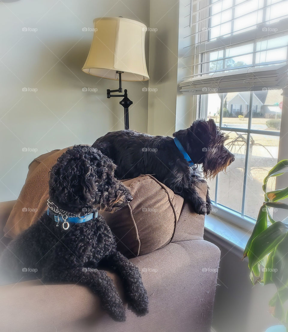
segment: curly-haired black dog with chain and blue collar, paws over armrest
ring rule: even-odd
[[[108,268],[123,279],[135,312],[148,312],[138,268],[117,251],[110,228],[97,212],[124,207],[132,200],[128,188],[114,178],[115,168],[89,146],[75,145],[58,158],[50,174],[48,215],[45,212],[13,240],[1,257],[8,283],[29,274],[30,279],[31,274],[34,279],[42,277],[43,283],[80,283],[99,295],[115,320],[124,321],[125,308],[112,280],[97,269]]]

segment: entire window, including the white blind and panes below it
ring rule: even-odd
[[[288,124],[288,0],[191,0],[185,8],[181,92],[193,96],[198,118],[214,119],[228,135],[236,157],[208,183],[210,196],[218,210],[252,221],[284,145],[281,122]],[[275,179],[268,186],[275,190]]]

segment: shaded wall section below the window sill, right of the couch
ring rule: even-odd
[[[206,240],[211,241],[209,238]],[[242,262],[226,248],[221,250],[218,286],[214,302],[212,327],[215,332],[263,332],[278,320],[268,312],[269,299],[275,285],[253,286],[249,278],[248,263]]]

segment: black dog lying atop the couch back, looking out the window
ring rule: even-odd
[[[203,182],[196,164],[202,164],[206,177],[214,177],[234,161],[234,155],[224,147],[227,136],[213,120],[195,121],[190,128],[174,132],[172,137],[151,136],[132,130],[108,132],[98,138],[93,147],[109,156],[117,165],[118,179],[154,175],[175,193],[189,201],[195,212],[210,213],[206,202],[196,191]],[[191,167],[192,166],[192,167]]]

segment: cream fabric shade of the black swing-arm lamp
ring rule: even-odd
[[[145,61],[147,27],[122,17],[93,20],[94,36],[82,70],[90,75],[118,80],[116,71],[124,72],[123,81],[149,79]]]

